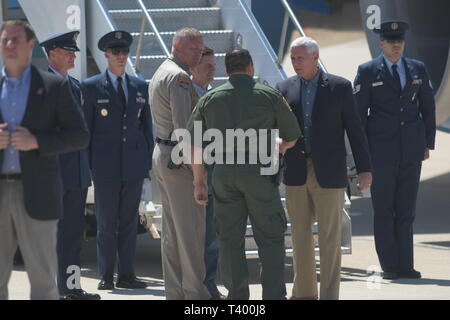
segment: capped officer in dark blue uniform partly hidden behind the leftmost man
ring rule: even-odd
[[[48,56],[48,71],[65,78],[81,108],[81,85],[77,79],[69,76],[68,71],[75,67],[75,52],[79,31],[57,34],[41,42]],[[98,294],[82,290],[75,283],[67,283],[74,274],[71,266],[80,268],[81,244],[84,232],[84,211],[88,187],[91,185],[89,161],[86,149],[64,153],[59,156],[63,181],[64,217],[58,223],[58,289],[64,300],[98,300]],[[75,273],[76,274],[76,273]],[[79,279],[78,279],[79,280]]]

